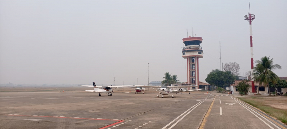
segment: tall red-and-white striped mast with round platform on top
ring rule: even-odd
[[[250,5],[249,5],[250,8]],[[250,9],[249,9],[250,11]],[[251,86],[252,86],[252,93],[255,93],[255,86],[254,86],[254,79],[253,79],[253,43],[252,43],[252,21],[255,19],[255,15],[251,14],[250,12],[248,15],[245,15],[245,20],[249,21],[249,29],[250,29],[250,51],[251,51]]]

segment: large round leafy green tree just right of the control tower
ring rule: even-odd
[[[224,85],[228,85],[228,87],[234,83],[235,77],[228,72],[218,71],[215,73],[208,74],[205,79],[207,83],[210,85],[215,85],[217,87],[224,87]]]

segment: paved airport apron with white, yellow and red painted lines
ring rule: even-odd
[[[192,92],[191,92],[192,93]],[[286,129],[232,95],[1,92],[1,129]]]

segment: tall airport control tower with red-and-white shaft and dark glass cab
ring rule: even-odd
[[[182,49],[182,57],[187,59],[187,83],[199,85],[199,65],[198,59],[203,58],[203,51],[200,46],[201,37],[183,38],[185,47]],[[199,87],[196,87],[198,89]]]

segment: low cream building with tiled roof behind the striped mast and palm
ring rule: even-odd
[[[243,80],[235,80],[234,84],[230,85],[230,91],[232,91],[232,94],[239,94],[239,91],[237,90],[236,86]],[[252,87],[251,87],[251,81],[248,81],[247,84],[249,84],[249,93],[248,94],[253,94],[252,92]],[[268,87],[267,86],[259,86],[258,82],[254,82],[255,85],[255,91],[256,93],[260,94],[268,94]]]

